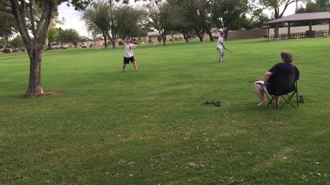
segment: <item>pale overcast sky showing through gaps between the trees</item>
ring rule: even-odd
[[[285,12],[285,16],[294,14],[294,10],[296,9],[296,3],[292,3],[287,8],[287,11]],[[63,20],[64,17],[64,24],[63,25],[57,25],[57,27],[62,27],[63,29],[69,29],[74,28],[76,29],[81,36],[89,36],[89,32],[87,31],[85,27],[84,21],[80,20],[81,12],[78,12],[74,10],[73,7],[67,7],[65,3],[62,3],[58,8],[58,19]],[[272,14],[271,10],[265,10],[265,13],[268,15]]]

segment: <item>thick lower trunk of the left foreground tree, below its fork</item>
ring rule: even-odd
[[[28,90],[26,90],[25,97],[40,97],[43,95],[41,88],[41,56],[42,49],[29,49],[30,58],[30,78]]]

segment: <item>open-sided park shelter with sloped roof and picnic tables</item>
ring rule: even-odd
[[[327,30],[313,30],[313,22],[315,21],[329,21],[329,29]],[[309,30],[300,33],[291,33],[291,23],[309,22]],[[270,36],[270,26],[280,23],[287,23],[287,34],[274,34]],[[292,14],[282,18],[269,21],[267,24],[267,38],[276,39],[292,39],[292,38],[312,38],[318,36],[330,36],[330,12],[313,12],[303,14]]]

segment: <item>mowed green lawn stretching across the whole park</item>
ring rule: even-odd
[[[0,184],[330,184],[330,38],[0,55]],[[249,79],[291,51],[305,103],[258,107]],[[221,101],[221,107],[202,105]]]

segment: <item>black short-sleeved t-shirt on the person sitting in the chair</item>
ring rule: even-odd
[[[269,93],[274,93],[274,90],[272,88],[272,82],[274,82],[274,79],[276,78],[276,76],[278,75],[278,73],[285,73],[285,71],[292,71],[292,68],[296,68],[296,79],[299,79],[299,71],[298,71],[298,68],[294,65],[292,65],[291,63],[285,63],[285,62],[281,62],[281,63],[278,63],[276,65],[274,65],[270,70],[271,73],[273,73],[271,76],[270,76],[270,79],[268,81],[268,83],[270,83],[268,86],[267,86],[267,91]]]

